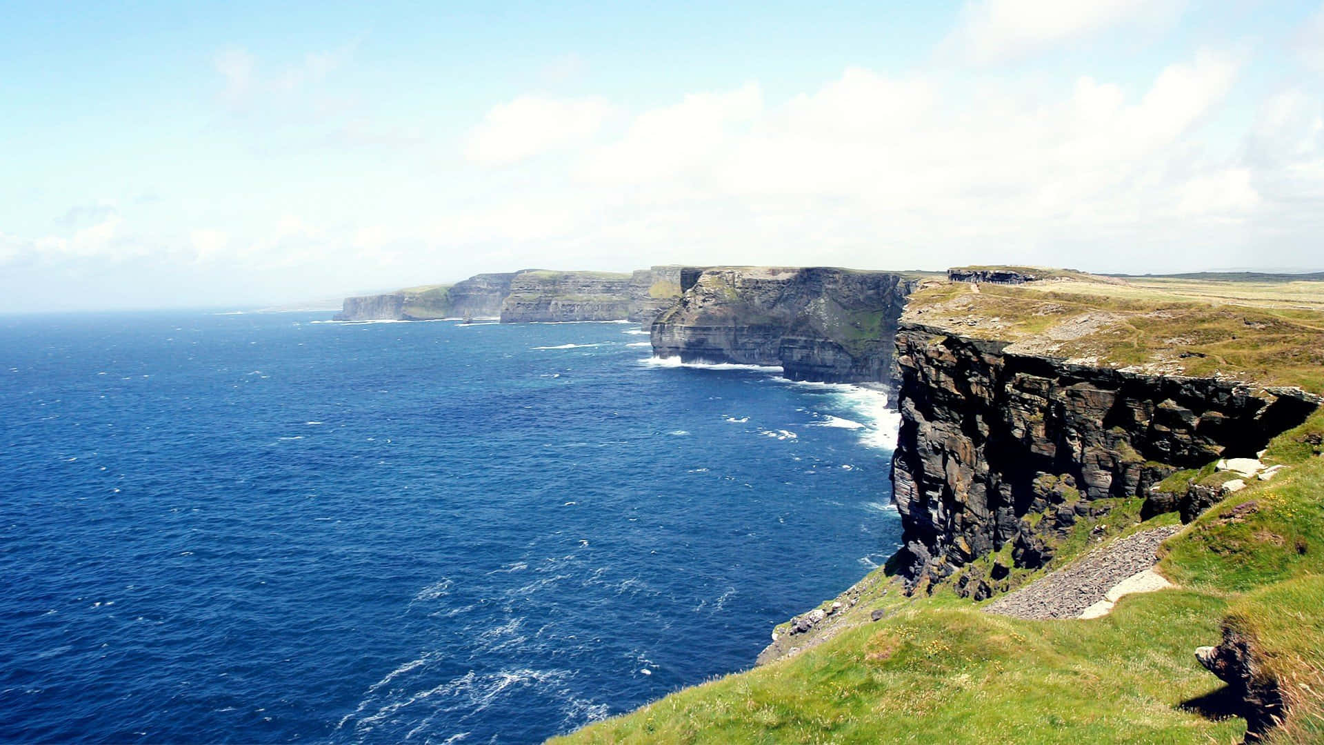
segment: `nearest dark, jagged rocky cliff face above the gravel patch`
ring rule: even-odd
[[[916,322],[900,325],[896,354],[894,561],[912,589],[1008,545],[1014,566],[1043,566],[1078,520],[1180,468],[1253,457],[1317,403],[1295,388],[1019,354]]]

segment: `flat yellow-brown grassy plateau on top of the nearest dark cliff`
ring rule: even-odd
[[[963,269],[1025,269],[1043,278],[929,281],[911,296],[902,323],[1080,365],[1324,392],[1324,281]]]

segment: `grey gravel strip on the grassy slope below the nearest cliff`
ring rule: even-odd
[[[1123,579],[1152,567],[1158,544],[1181,530],[1180,525],[1143,530],[1119,538],[989,603],[984,610],[1016,618],[1076,618],[1103,599]]]

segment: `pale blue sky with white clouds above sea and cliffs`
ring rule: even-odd
[[[3,3],[0,313],[1324,269],[1320,0]]]

